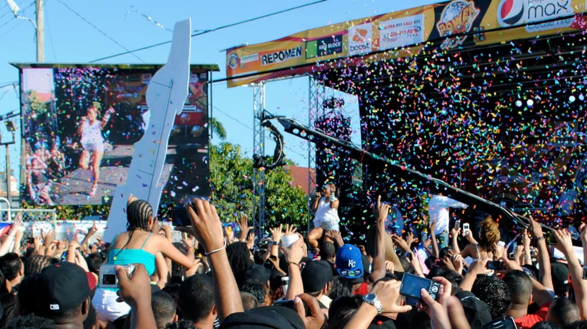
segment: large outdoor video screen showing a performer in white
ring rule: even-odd
[[[151,116],[159,65],[14,64],[21,74],[22,202],[110,204]],[[161,204],[210,194],[208,73],[191,66],[189,93],[167,147]]]

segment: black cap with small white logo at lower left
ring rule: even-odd
[[[39,314],[68,311],[90,297],[86,272],[69,262],[47,266],[29,284],[35,292],[35,313]]]

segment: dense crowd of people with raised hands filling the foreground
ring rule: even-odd
[[[453,225],[442,244],[437,221],[425,239],[390,236],[390,205],[378,198],[371,245],[357,246],[335,229],[327,186],[314,203],[319,231],[279,225],[260,244],[245,215],[234,237],[213,204],[186,207],[181,243],[132,196],[127,231],[112,241],[90,244],[96,227],[81,242],[52,232],[22,241],[16,219],[0,244],[0,327],[587,328],[587,280],[566,229],[549,232],[549,246],[531,220],[512,253],[491,216],[475,236]],[[579,231],[587,244],[585,224]]]

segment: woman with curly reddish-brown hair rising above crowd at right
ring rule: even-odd
[[[457,230],[457,234],[458,232],[460,232],[460,229]],[[469,234],[471,234],[471,231],[469,231]],[[498,252],[498,242],[500,242],[500,239],[501,234],[499,224],[493,220],[491,215],[488,215],[479,224],[478,242],[471,239],[472,243],[465,246],[463,251],[458,249],[458,244],[456,243],[454,243],[453,248],[454,251],[460,253],[463,258],[471,257],[473,258],[473,261],[485,257],[496,260],[501,256]]]

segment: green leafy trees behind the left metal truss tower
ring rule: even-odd
[[[210,145],[211,200],[223,221],[234,221],[239,213],[251,217],[253,206],[252,159],[241,146],[223,142]],[[265,172],[265,220],[269,227],[284,223],[303,228],[308,220],[308,198],[292,185],[285,167]]]

